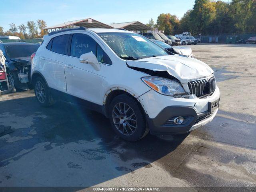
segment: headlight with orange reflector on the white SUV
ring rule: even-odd
[[[156,92],[168,96],[186,94],[181,84],[161,77],[143,77],[141,80]]]

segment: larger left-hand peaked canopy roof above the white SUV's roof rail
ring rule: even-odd
[[[109,26],[102,22],[88,18],[88,19],[82,19],[82,20],[63,22],[58,25],[46,27],[46,28],[44,28],[44,33],[47,34],[52,31],[60,30],[63,28],[72,28],[72,27],[76,27],[76,26],[86,27],[86,28],[113,28],[112,26]]]

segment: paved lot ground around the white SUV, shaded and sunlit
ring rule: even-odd
[[[14,132],[0,137],[0,186],[256,186],[256,45],[190,47],[221,91],[210,124],[130,143],[96,112],[3,95],[0,126]]]

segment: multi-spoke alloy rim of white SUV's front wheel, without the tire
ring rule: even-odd
[[[123,135],[134,134],[137,128],[137,118],[134,110],[126,103],[119,102],[112,109],[112,118],[116,129]]]

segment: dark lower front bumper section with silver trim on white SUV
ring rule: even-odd
[[[214,112],[196,113],[189,106],[168,106],[164,108],[155,118],[147,118],[150,133],[153,135],[183,134],[211,122],[216,116],[218,109]],[[172,122],[174,117],[182,116],[186,121],[180,125]]]

